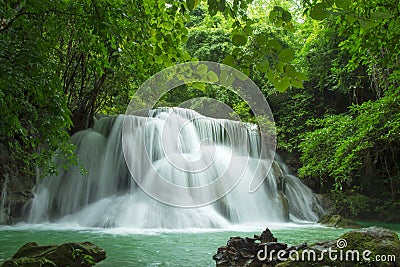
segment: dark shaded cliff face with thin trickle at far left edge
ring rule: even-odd
[[[19,164],[12,162],[8,151],[0,145],[0,224],[22,220],[34,185],[35,178],[22,175]]]

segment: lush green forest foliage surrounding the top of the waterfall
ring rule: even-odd
[[[399,10],[398,0],[0,1],[0,151],[26,174],[55,171],[56,154],[74,164],[70,134],[97,113],[124,113],[151,75],[221,62],[261,88],[278,149],[308,185],[346,215],[370,205],[395,218]],[[213,85],[178,88],[159,105],[202,96],[254,121]]]

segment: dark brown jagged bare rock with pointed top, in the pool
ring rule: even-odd
[[[267,228],[261,235],[231,237],[226,246],[218,248],[213,256],[217,266],[269,267],[287,259],[289,253],[306,247],[306,244],[288,247],[279,243]]]

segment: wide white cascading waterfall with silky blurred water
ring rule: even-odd
[[[129,126],[126,133],[124,124]],[[265,156],[269,152],[261,149],[261,137],[252,125],[210,119],[188,109],[159,108],[147,116],[103,117],[93,129],[78,132],[71,139],[84,170],[65,170],[60,164],[57,176],[39,182],[31,201],[31,223],[224,228],[242,223],[315,222],[322,213],[313,192],[290,175],[282,162],[274,161],[269,168],[271,161]],[[241,179],[232,190],[231,185],[217,179],[238,173]],[[183,193],[160,187],[159,176],[183,188]],[[257,191],[249,193],[256,176],[265,180]],[[192,187],[212,183],[212,190],[194,196]],[[150,197],[140,184],[173,204]],[[220,193],[221,198],[208,205],[175,205]]]

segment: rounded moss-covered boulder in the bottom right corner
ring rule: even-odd
[[[302,260],[302,254],[305,251],[307,253],[304,253],[305,257]],[[332,251],[331,256],[327,253],[329,251]],[[289,260],[276,266],[400,266],[398,263],[400,259],[399,237],[391,230],[375,226],[345,233],[337,240],[317,242],[298,253],[299,260]],[[317,260],[308,258],[307,255],[313,253]],[[378,261],[378,258],[375,257],[379,257],[380,260]]]

